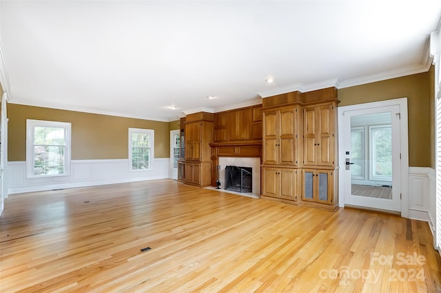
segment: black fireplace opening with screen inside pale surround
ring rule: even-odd
[[[252,192],[253,168],[225,166],[225,189],[236,192]]]

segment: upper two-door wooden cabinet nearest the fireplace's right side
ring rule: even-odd
[[[298,165],[300,107],[283,107],[263,112],[263,163]]]

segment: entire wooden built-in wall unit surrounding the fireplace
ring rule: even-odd
[[[178,178],[216,186],[220,156],[257,156],[263,199],[336,210],[337,103],[336,88],[326,88],[279,94],[261,105],[216,114],[189,114]]]

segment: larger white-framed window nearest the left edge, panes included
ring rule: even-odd
[[[26,120],[28,178],[70,174],[70,130],[70,123]]]

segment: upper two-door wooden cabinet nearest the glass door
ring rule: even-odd
[[[324,103],[306,106],[304,120],[304,165],[335,165],[336,106]]]

